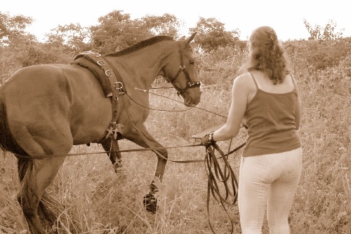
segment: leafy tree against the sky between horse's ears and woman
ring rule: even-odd
[[[239,29],[225,31],[224,24],[216,18],[199,18],[196,27],[190,33],[197,32],[194,42],[205,51],[216,50],[218,47],[235,46],[239,42]]]

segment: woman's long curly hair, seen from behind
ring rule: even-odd
[[[272,27],[262,26],[253,30],[248,47],[249,54],[240,71],[263,71],[274,85],[282,83],[291,73],[289,58]]]

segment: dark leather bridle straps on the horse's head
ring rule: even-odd
[[[177,90],[177,94],[178,95],[183,95],[187,89],[189,88],[196,88],[199,87],[201,85],[200,81],[192,81],[192,79],[190,78],[189,72],[187,72],[186,67],[184,65],[184,59],[183,59],[183,53],[185,53],[187,51],[187,48],[180,48],[180,43],[178,43],[178,47],[179,47],[179,55],[180,55],[180,67],[178,69],[178,72],[176,74],[176,76],[170,77],[170,76],[166,76],[166,81],[172,83],[172,85],[174,86],[174,88],[176,88]],[[194,62],[190,62],[190,65],[194,66]],[[164,71],[165,67],[162,67],[162,71],[164,72],[164,74],[166,74],[166,71]],[[180,73],[183,71],[183,73],[185,74],[185,77],[187,78],[187,85],[185,86],[185,88],[179,88],[176,87],[176,85],[174,85],[174,81],[176,81],[176,79],[178,78],[178,76],[180,75]]]

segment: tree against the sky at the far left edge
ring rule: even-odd
[[[23,15],[10,16],[0,12],[0,46],[8,46],[20,39],[35,40],[35,36],[27,34],[25,28],[31,25],[33,19]]]

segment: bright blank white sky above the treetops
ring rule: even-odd
[[[239,29],[240,39],[246,40],[253,29],[263,25],[272,27],[279,40],[307,39],[303,20],[311,26],[324,27],[333,20],[336,32],[351,36],[351,13],[347,0],[1,0],[0,12],[11,16],[32,17],[27,32],[43,40],[44,35],[58,25],[79,23],[83,27],[98,25],[98,18],[116,10],[131,15],[131,19],[145,15],[175,15],[184,22],[184,36],[195,27],[199,18],[216,18],[227,31]]]

